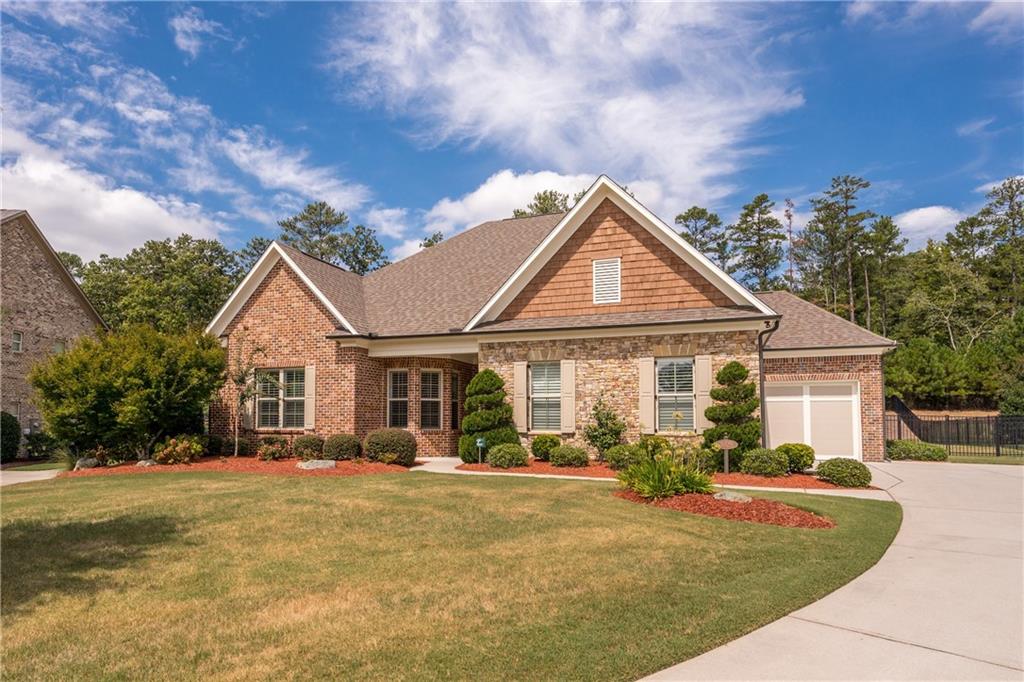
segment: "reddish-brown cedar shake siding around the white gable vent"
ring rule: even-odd
[[[592,261],[622,259],[622,299],[593,301]],[[560,317],[734,304],[650,231],[605,199],[498,316]]]

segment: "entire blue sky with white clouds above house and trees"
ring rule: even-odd
[[[2,5],[2,202],[58,249],[425,233],[600,173],[663,218],[855,173],[912,243],[1024,170],[1024,4]]]

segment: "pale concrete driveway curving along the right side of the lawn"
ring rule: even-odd
[[[1024,466],[892,462],[885,556],[823,599],[651,680],[1024,680]]]

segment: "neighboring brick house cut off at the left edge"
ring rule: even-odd
[[[0,408],[38,431],[29,370],[104,325],[28,211],[0,210]]]

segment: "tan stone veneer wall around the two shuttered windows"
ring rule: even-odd
[[[717,373],[730,360],[738,360],[751,371],[751,381],[758,381],[757,332],[753,331],[482,342],[479,367],[481,370],[489,368],[501,375],[506,383],[506,391],[511,396],[513,363],[574,359],[577,430],[573,434],[563,434],[562,439],[586,447],[583,430],[590,422],[594,403],[602,395],[605,402],[626,422],[626,437],[630,440],[639,437],[638,358],[706,354],[713,356],[713,372]]]

